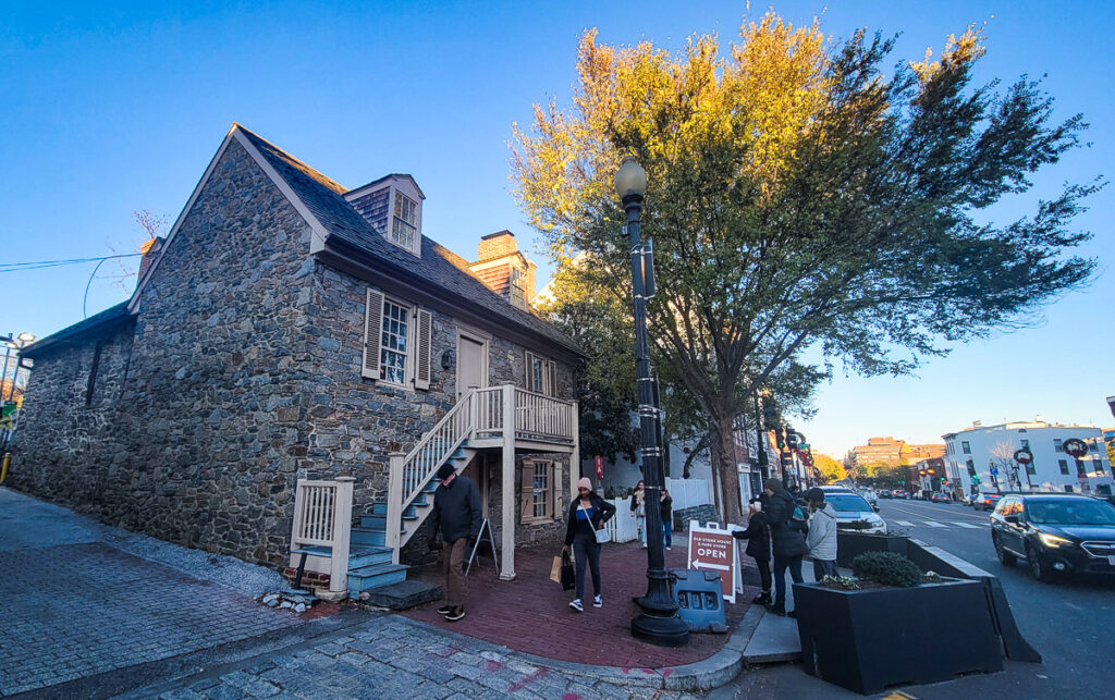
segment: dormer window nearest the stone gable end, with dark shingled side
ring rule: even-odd
[[[421,201],[409,175],[388,175],[346,193],[345,198],[385,240],[421,255]]]

